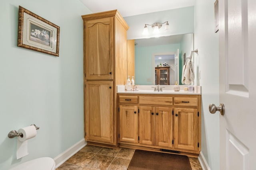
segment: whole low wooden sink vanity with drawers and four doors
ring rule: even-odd
[[[119,94],[118,105],[120,147],[200,153],[201,95]]]

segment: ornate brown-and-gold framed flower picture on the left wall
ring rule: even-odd
[[[18,47],[59,56],[60,27],[19,6]]]

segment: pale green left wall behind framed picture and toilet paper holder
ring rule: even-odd
[[[18,6],[60,26],[60,57],[17,47]],[[79,0],[0,1],[0,169],[33,158],[55,158],[84,138],[83,23]],[[40,129],[16,160],[11,130]]]

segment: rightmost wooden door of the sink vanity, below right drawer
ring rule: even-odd
[[[197,109],[174,108],[174,147],[198,150]]]

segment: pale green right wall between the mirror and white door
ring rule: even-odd
[[[220,114],[210,114],[209,104],[219,104],[219,49],[214,33],[215,0],[196,0],[194,47],[196,85],[202,86],[201,152],[211,170],[220,169]],[[199,71],[200,79],[199,79]],[[225,144],[223,144],[225,145]]]

